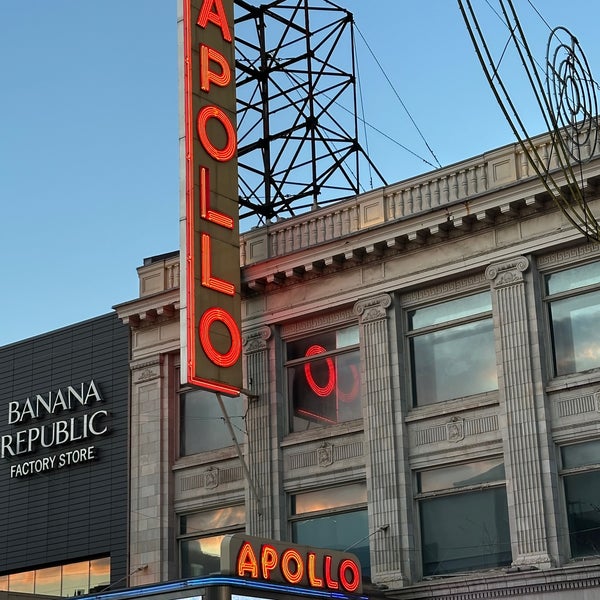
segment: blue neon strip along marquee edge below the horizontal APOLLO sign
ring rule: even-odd
[[[110,598],[140,598],[148,596],[150,594],[160,594],[161,592],[172,592],[176,590],[192,591],[198,587],[214,587],[217,585],[227,585],[237,588],[247,588],[253,590],[265,590],[268,592],[279,592],[284,594],[294,594],[296,596],[310,596],[313,598],[331,598],[332,600],[368,600],[367,596],[349,596],[340,592],[327,592],[324,590],[315,590],[311,588],[300,588],[279,583],[269,583],[264,581],[252,581],[250,579],[239,579],[236,577],[202,577],[199,579],[182,579],[179,581],[171,581],[166,583],[158,583],[156,585],[130,588],[127,590],[115,590],[114,592],[106,592],[104,594],[90,594],[86,596],[80,596],[84,598],[95,598],[97,600]],[[195,596],[194,598],[196,598]],[[191,598],[191,597],[190,597]],[[184,600],[183,598],[178,600]]]

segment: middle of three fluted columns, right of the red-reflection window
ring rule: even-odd
[[[402,585],[400,499],[397,449],[392,403],[392,377],[387,309],[388,294],[359,300],[354,312],[361,327],[362,380],[371,578],[390,588]]]

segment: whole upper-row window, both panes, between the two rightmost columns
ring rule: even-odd
[[[489,291],[409,310],[414,406],[498,389]]]

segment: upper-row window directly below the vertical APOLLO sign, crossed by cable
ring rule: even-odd
[[[245,431],[242,396],[221,396],[238,441]],[[233,446],[233,440],[215,394],[205,390],[180,397],[180,456]]]

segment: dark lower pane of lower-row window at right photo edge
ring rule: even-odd
[[[571,554],[600,554],[600,471],[565,477]]]

